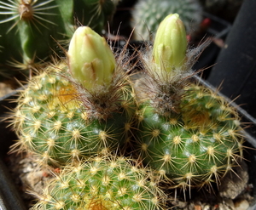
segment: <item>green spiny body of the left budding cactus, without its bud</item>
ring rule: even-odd
[[[127,90],[125,94],[129,94]],[[19,99],[15,127],[20,140],[16,146],[55,164],[125,144],[131,128],[129,101],[122,104],[120,100],[119,110],[101,121],[88,119],[76,97],[75,89],[63,77],[50,73],[35,77]]]

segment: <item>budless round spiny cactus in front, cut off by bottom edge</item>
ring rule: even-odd
[[[32,210],[160,210],[166,196],[145,169],[126,157],[96,157],[66,167]]]

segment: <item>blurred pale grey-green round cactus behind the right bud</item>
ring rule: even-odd
[[[201,4],[197,0],[141,0],[132,11],[135,39],[149,40],[154,37],[160,21],[172,13],[180,15],[189,33],[196,31],[202,20]]]

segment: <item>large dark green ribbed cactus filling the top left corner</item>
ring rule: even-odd
[[[114,11],[111,0],[0,1],[3,76],[14,77],[19,70],[28,75],[29,71],[42,68],[38,66],[42,60],[49,61],[53,54],[62,54],[58,43],[68,43],[77,25],[91,26],[102,34]]]

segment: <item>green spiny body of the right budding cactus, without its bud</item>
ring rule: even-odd
[[[236,112],[207,88],[188,88],[179,114],[160,116],[142,105],[138,120],[141,158],[177,185],[218,181],[242,150]]]

